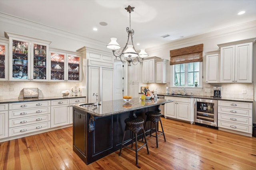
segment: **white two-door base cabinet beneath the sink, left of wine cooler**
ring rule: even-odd
[[[194,114],[192,108],[191,98],[180,98],[164,96],[166,100],[173,100],[173,102],[164,105],[164,116],[174,119],[189,121],[191,124],[194,121]]]

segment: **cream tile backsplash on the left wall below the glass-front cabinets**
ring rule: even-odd
[[[42,97],[62,96],[62,91],[80,86],[75,82],[0,82],[0,100],[18,99],[23,88],[38,88]],[[71,94],[70,94],[71,95]],[[40,96],[41,97],[41,96]]]

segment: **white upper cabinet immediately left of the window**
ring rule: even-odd
[[[156,61],[155,70],[156,70],[156,83],[166,83],[167,81],[167,70],[168,70],[168,60],[162,59]],[[169,64],[170,65],[170,64]]]

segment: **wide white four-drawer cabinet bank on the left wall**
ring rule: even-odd
[[[9,104],[9,137],[50,128],[50,100]]]

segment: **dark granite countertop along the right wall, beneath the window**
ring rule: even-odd
[[[143,93],[139,93],[143,94]],[[182,98],[200,98],[200,99],[210,99],[210,100],[229,100],[229,101],[238,101],[238,102],[253,102],[253,99],[240,99],[240,98],[214,98],[213,96],[190,96],[190,95],[172,95],[165,93],[157,93],[157,95],[161,96],[170,96],[170,97],[182,97]]]

